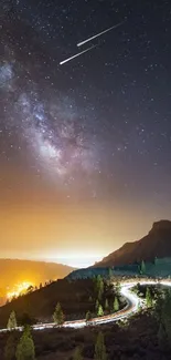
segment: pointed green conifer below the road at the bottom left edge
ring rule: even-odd
[[[20,338],[15,352],[17,360],[34,360],[35,350],[34,342],[30,332],[30,327],[24,328],[23,335]]]

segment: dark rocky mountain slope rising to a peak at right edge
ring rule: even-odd
[[[147,236],[133,243],[126,243],[118,250],[109,254],[94,267],[108,267],[151,261],[154,257],[171,257],[171,222],[153,223]]]

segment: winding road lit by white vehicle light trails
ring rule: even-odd
[[[108,322],[114,322],[114,321],[118,321],[125,318],[128,318],[129,316],[131,316],[132,313],[137,312],[139,309],[139,306],[145,307],[145,301],[141,300],[135,292],[131,292],[131,288],[133,286],[136,286],[137,284],[140,285],[158,285],[161,284],[163,286],[171,286],[171,281],[169,280],[142,280],[142,281],[130,281],[130,282],[122,282],[121,284],[121,288],[120,288],[120,295],[124,296],[127,300],[127,305],[122,310],[119,310],[115,313],[110,313],[110,315],[106,315],[103,317],[98,317],[98,318],[94,318],[90,321],[88,321],[88,325],[92,326],[96,326],[96,325],[103,325],[103,323],[108,323]],[[82,320],[75,320],[75,321],[65,321],[63,323],[63,328],[84,328],[85,326],[87,326],[87,322],[85,319]],[[50,323],[39,323],[39,325],[33,325],[32,328],[34,330],[44,330],[44,329],[52,329],[56,327],[56,325],[54,325],[54,322],[50,322]],[[18,327],[17,330],[22,331],[22,327]],[[8,329],[0,329],[0,332],[7,332],[10,331]]]

